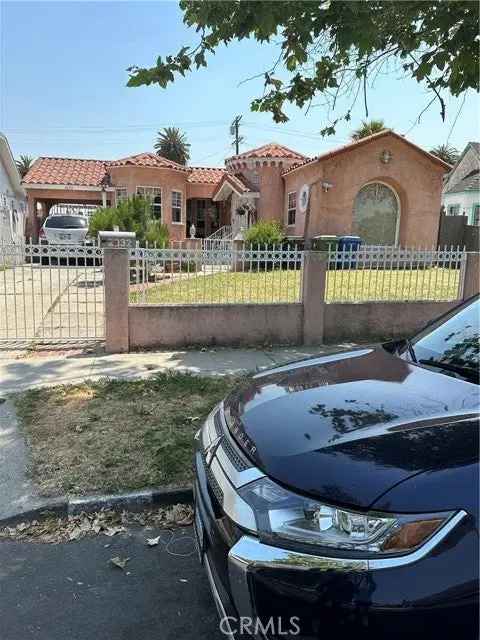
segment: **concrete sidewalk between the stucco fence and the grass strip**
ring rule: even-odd
[[[315,354],[330,353],[350,344],[274,349],[206,349],[127,354],[69,354],[23,356],[0,352],[0,395],[31,387],[75,384],[99,378],[136,378],[160,371],[203,375],[234,375],[258,371]]]

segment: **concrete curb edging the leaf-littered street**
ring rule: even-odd
[[[82,512],[91,513],[101,509],[141,511],[150,506],[169,507],[174,504],[191,503],[193,503],[193,490],[191,487],[179,487],[178,489],[153,488],[131,493],[94,494],[71,498],[61,497],[45,500],[35,509],[0,518],[0,527],[12,526],[27,520],[41,520],[51,514],[59,518],[65,518]]]

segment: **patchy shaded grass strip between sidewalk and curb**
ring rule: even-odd
[[[18,394],[35,485],[42,495],[188,485],[194,433],[234,382],[165,373]]]

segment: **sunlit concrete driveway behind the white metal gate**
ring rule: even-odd
[[[0,271],[0,340],[103,337],[103,270],[24,264]]]

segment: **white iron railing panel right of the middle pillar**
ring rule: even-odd
[[[460,247],[330,250],[326,301],[457,300],[462,297],[465,264]]]

